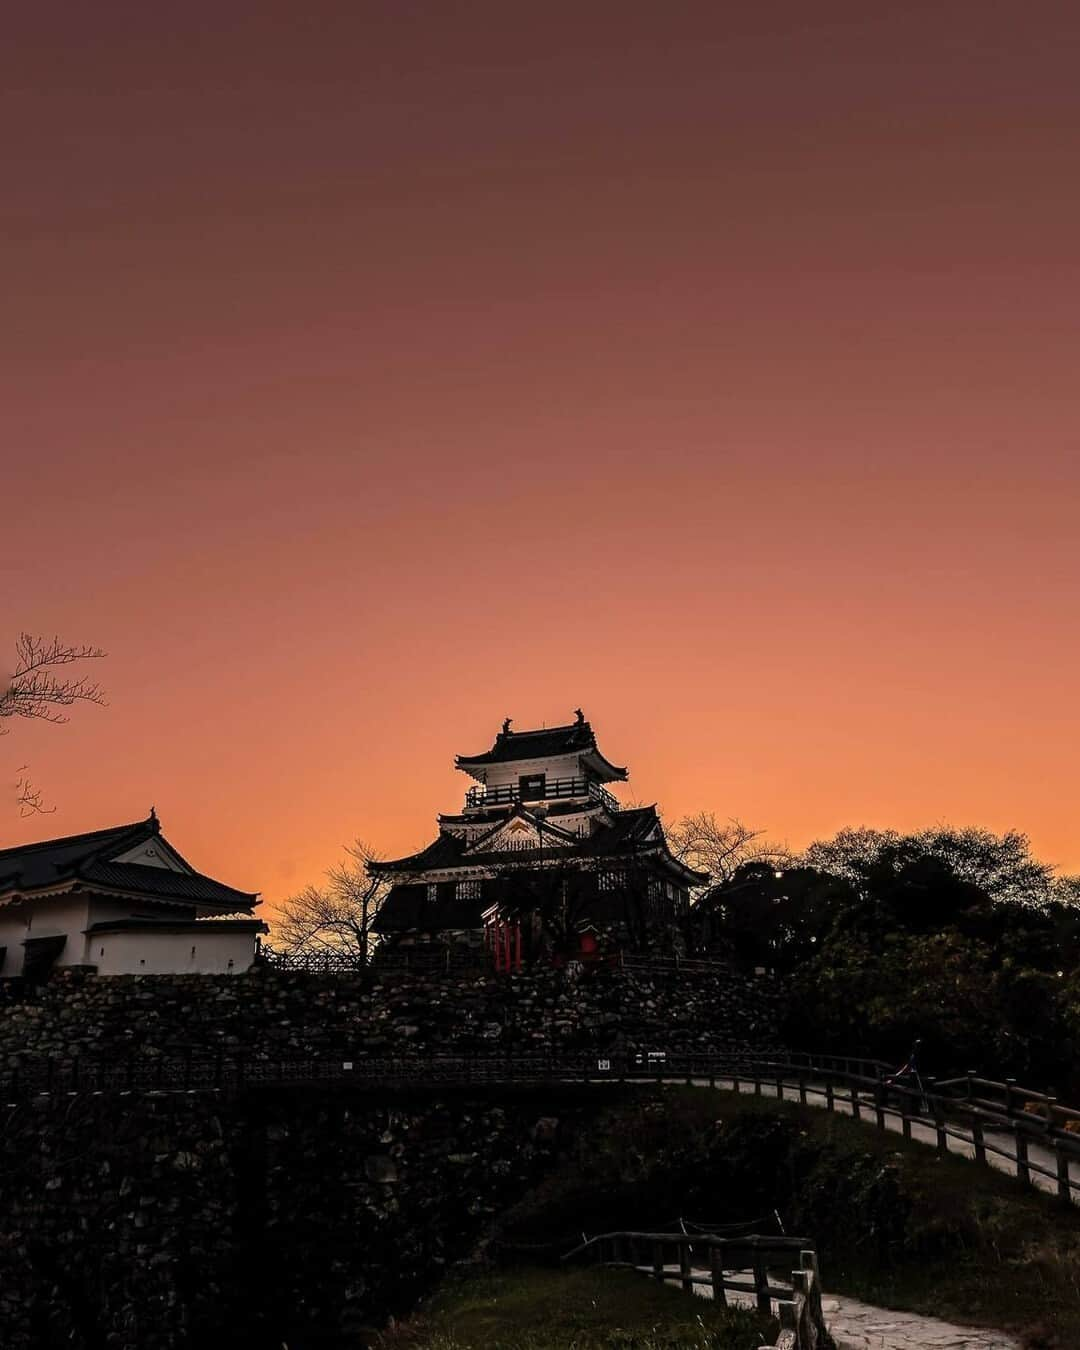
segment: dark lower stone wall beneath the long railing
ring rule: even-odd
[[[45,1099],[0,1137],[4,1350],[366,1343],[536,1180],[579,1092]]]

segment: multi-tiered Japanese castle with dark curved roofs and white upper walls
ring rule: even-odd
[[[601,752],[580,709],[567,726],[541,730],[516,732],[508,718],[489,751],[459,755],[455,767],[475,783],[460,811],[439,817],[439,837],[370,864],[392,882],[373,925],[386,945],[483,941],[497,964],[518,964],[522,923],[537,936],[520,896],[544,882],[562,887],[564,919],[572,888],[563,954],[587,956],[634,933],[655,941],[672,932],[690,887],[709,880],[670,850],[655,806],[620,806],[608,784],[625,783],[628,771]]]

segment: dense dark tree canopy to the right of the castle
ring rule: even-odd
[[[699,945],[776,971],[788,1041],[930,1072],[979,1068],[1080,1099],[1080,887],[1023,834],[842,830],[790,868],[740,867]]]

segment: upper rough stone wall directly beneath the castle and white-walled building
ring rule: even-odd
[[[737,972],[99,979],[0,984],[0,1071],[35,1056],[190,1049],[251,1058],[770,1049],[778,994]]]

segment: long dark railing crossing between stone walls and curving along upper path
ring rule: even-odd
[[[937,1081],[899,1081],[879,1060],[836,1054],[693,1054],[663,1049],[616,1054],[473,1054],[270,1058],[190,1049],[123,1060],[28,1058],[0,1076],[0,1102],[122,1092],[247,1091],[338,1083],[358,1088],[500,1087],[508,1084],[687,1083],[814,1102],[906,1137],[918,1125],[942,1152],[949,1139],[971,1146],[977,1162],[1007,1160],[1030,1183],[1048,1179],[1062,1199],[1080,1196],[1080,1111],[1013,1080],[975,1073]],[[1038,1145],[1035,1156],[1031,1149]],[[1076,1174],[1073,1174],[1076,1173]]]

